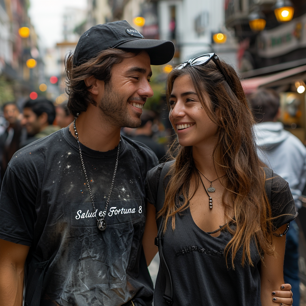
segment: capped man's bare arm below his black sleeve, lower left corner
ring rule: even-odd
[[[22,306],[24,263],[29,248],[0,239],[1,306]]]

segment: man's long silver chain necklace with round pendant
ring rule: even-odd
[[[90,194],[92,206],[93,206],[93,208],[94,208],[94,212],[96,212],[97,209],[95,208],[94,198],[93,198],[93,196],[92,196],[92,194],[91,194],[91,189],[90,189],[89,181],[88,181],[88,178],[87,178],[87,174],[86,174],[86,170],[85,170],[85,165],[84,165],[84,161],[83,161],[83,156],[82,156],[82,151],[81,151],[81,147],[80,147],[79,136],[78,136],[78,132],[77,132],[77,130],[76,130],[76,119],[74,119],[74,121],[73,121],[73,129],[74,129],[74,134],[75,134],[75,136],[76,136],[77,143],[78,143],[78,145],[79,145],[79,151],[80,151],[81,162],[82,162],[82,166],[83,166],[83,170],[84,170],[84,174],[85,174],[86,183],[87,183],[87,187],[88,187],[88,190],[89,190],[89,194]],[[120,139],[120,141],[121,141],[121,139]],[[106,211],[107,211],[108,203],[109,203],[109,201],[110,201],[110,194],[112,193],[113,185],[114,185],[114,181],[115,181],[115,176],[116,176],[116,171],[117,171],[117,166],[118,166],[120,141],[119,141],[119,144],[118,144],[118,152],[117,152],[117,159],[116,159],[115,171],[114,171],[112,183],[111,183],[111,185],[110,185],[110,193],[108,194],[108,198],[107,198],[107,200],[106,200],[105,210],[103,211],[102,218],[100,218],[100,219],[98,219],[97,213],[95,214],[95,215],[96,215],[95,217],[96,217],[96,219],[97,219],[97,226],[98,226],[98,229],[99,229],[99,230],[105,230],[105,229],[106,229],[106,221],[105,221],[104,218],[105,218],[105,216],[106,216]]]

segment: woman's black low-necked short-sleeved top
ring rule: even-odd
[[[147,200],[154,205],[161,169],[162,164],[150,170],[147,175]],[[179,196],[177,200],[184,203],[183,196]],[[294,200],[288,183],[282,177],[273,178],[271,202],[272,216],[279,216],[274,219],[276,228],[296,217]],[[224,256],[224,249],[232,238],[228,231],[222,230],[218,237],[212,237],[196,225],[189,209],[176,214],[174,231],[171,222],[172,219],[169,218],[162,243],[163,254],[172,278],[174,305],[261,305],[261,261],[255,244],[250,245],[254,266],[241,266],[242,250],[239,250],[234,259],[233,270],[230,267],[231,259],[228,260],[227,268]],[[165,276],[159,266],[154,305],[167,305],[163,299],[165,286]]]

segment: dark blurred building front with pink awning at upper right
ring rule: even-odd
[[[306,2],[291,0],[291,21],[278,22],[276,0],[226,0],[225,22],[237,37],[238,67],[247,94],[273,88],[281,96],[285,127],[305,143]],[[254,32],[250,14],[263,13],[264,30]],[[303,89],[304,88],[304,89]]]

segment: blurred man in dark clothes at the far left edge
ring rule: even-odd
[[[0,177],[5,174],[7,165],[13,154],[20,149],[20,143],[26,138],[26,131],[20,124],[20,111],[14,102],[3,105],[3,116],[8,122],[4,133],[0,136]]]

